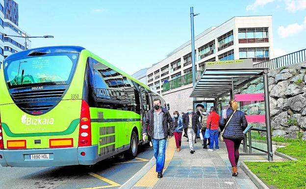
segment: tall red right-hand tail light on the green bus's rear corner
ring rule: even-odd
[[[82,100],[81,116],[78,133],[78,146],[91,145],[91,120],[89,105],[85,100]]]

